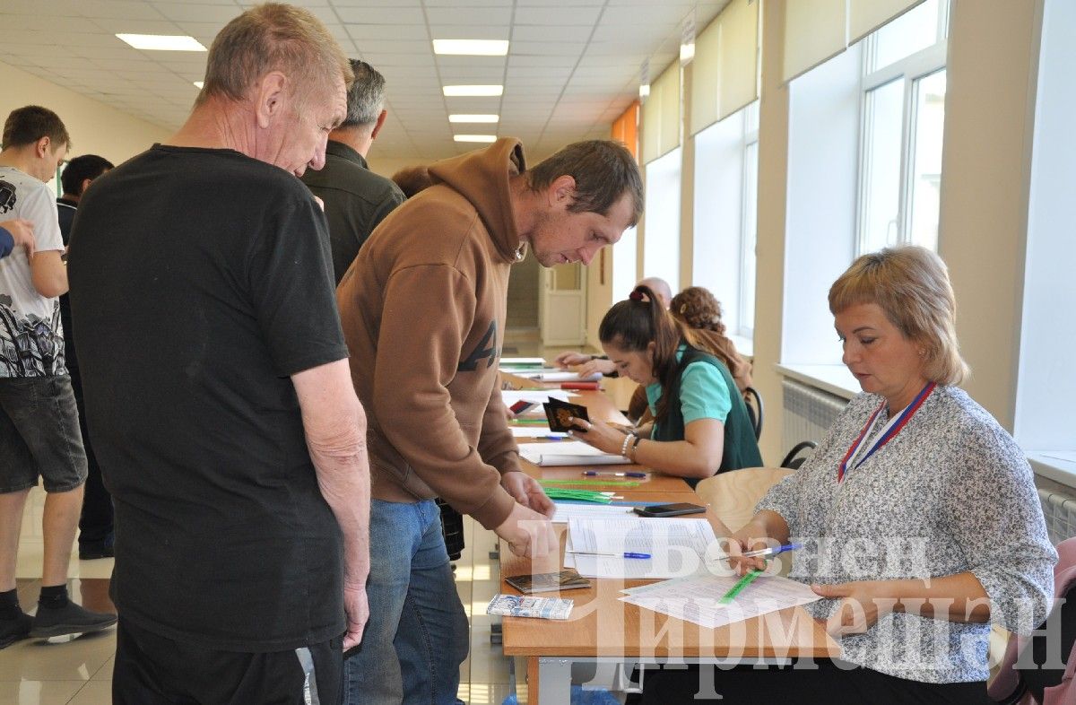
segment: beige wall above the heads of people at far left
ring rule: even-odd
[[[30,104],[44,105],[60,116],[73,142],[69,156],[99,154],[119,164],[172,132],[6,64],[0,64],[0,86],[4,117]]]

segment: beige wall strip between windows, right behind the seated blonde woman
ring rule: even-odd
[[[1040,0],[953,0],[938,252],[972,366],[963,384],[1013,431]]]

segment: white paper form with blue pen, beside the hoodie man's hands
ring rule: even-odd
[[[710,522],[699,519],[571,519],[565,567],[587,578],[681,578],[706,572],[707,550],[717,538]],[[649,553],[625,559],[624,553]]]

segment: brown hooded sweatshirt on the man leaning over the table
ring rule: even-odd
[[[514,139],[434,164],[435,185],[382,221],[340,281],[377,499],[440,496],[487,528],[512,509],[500,476],[519,450],[497,359],[520,249],[509,175],[524,169]]]

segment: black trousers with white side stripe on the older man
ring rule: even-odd
[[[113,705],[339,705],[342,637],[240,653],[174,641],[119,618]]]

